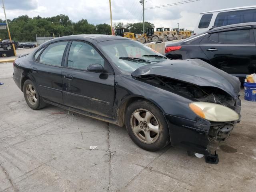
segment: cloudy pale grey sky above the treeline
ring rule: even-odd
[[[145,0],[145,8],[182,1],[185,0]],[[84,18],[92,24],[110,24],[109,0],[5,0],[4,2],[8,19],[24,14],[30,17],[66,14],[75,22]],[[113,22],[142,21],[142,6],[139,0],[112,0],[111,2]],[[194,30],[201,12],[252,5],[256,5],[256,0],[199,0],[145,10],[145,20],[154,23],[156,27],[175,28],[177,23],[180,23],[180,28]],[[4,18],[2,9],[0,9],[0,18]]]

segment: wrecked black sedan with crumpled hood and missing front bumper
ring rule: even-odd
[[[13,78],[34,110],[52,104],[126,126],[141,148],[205,154],[240,120],[238,78],[198,59],[170,60],[128,38],[76,35],[17,58]]]

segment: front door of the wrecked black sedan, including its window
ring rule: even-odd
[[[66,106],[112,118],[114,74],[108,62],[91,44],[73,41],[62,70],[63,102]],[[101,64],[104,72],[90,72],[90,64]]]

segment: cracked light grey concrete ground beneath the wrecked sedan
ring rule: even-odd
[[[124,127],[55,106],[34,111],[12,71],[0,64],[1,192],[255,192],[256,102],[241,96],[242,120],[212,165],[170,146],[142,150]]]

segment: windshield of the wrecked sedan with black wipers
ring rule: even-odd
[[[124,74],[130,74],[143,65],[167,60],[162,54],[134,40],[110,40],[98,45]]]

